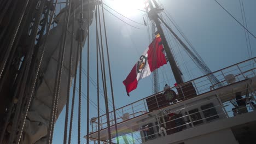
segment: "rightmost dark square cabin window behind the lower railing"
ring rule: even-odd
[[[203,116],[205,116],[206,121],[212,121],[213,119],[219,118],[218,113],[212,103],[201,106]],[[205,110],[205,111],[204,111]]]

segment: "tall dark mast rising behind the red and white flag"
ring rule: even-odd
[[[153,1],[154,1],[154,4],[156,5],[156,8],[153,7],[152,1],[150,0],[149,1],[150,11],[148,12],[148,17],[149,17],[149,19],[152,19],[155,22],[155,25],[158,28],[158,32],[159,32],[160,37],[162,39],[162,43],[164,45],[164,49],[165,49],[168,61],[171,65],[171,69],[172,69],[172,73],[174,75],[174,78],[175,78],[177,84],[181,84],[181,83],[183,83],[182,76],[181,76],[181,71],[179,70],[179,68],[178,68],[178,66],[177,66],[177,64],[174,60],[173,54],[170,50],[170,46],[168,45],[167,40],[165,38],[164,31],[162,31],[162,27],[161,27],[160,22],[158,20],[158,12],[161,11],[162,9],[158,8],[158,5],[156,4],[155,0],[153,0]]]

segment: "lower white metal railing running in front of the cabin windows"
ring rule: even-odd
[[[245,88],[245,89],[242,89],[241,91],[247,91],[247,89]],[[236,92],[233,92],[232,94],[235,94]],[[226,94],[227,95],[227,94]],[[219,97],[219,98],[222,98],[222,97],[225,97],[226,95],[222,95],[221,97]],[[219,100],[219,98],[218,98],[218,95],[216,95],[216,98],[214,98],[214,99],[216,99],[216,100]],[[172,128],[164,128],[164,127],[159,127],[159,129],[161,129],[161,128],[164,128],[165,129],[165,132],[167,133],[167,135],[170,135],[170,132],[168,132],[168,131],[173,131],[172,133],[178,133],[179,131],[182,131],[182,130],[185,130],[185,129],[189,129],[189,128],[193,128],[193,127],[197,127],[197,126],[199,126],[199,125],[202,125],[202,124],[206,124],[206,123],[210,123],[210,122],[212,122],[212,121],[215,121],[215,120],[217,120],[217,119],[223,119],[223,118],[228,118],[228,117],[233,117],[233,115],[232,115],[232,110],[228,110],[228,111],[223,111],[223,112],[219,112],[219,113],[217,113],[216,115],[211,115],[211,116],[208,116],[208,117],[201,117],[201,118],[199,118],[199,119],[197,119],[197,120],[193,120],[193,118],[191,118],[191,117],[193,117],[193,115],[196,115],[196,113],[203,113],[204,111],[207,111],[207,110],[211,110],[211,109],[218,109],[218,107],[220,107],[221,109],[224,109],[224,107],[230,107],[231,106],[231,103],[228,101],[228,103],[225,103],[225,104],[222,104],[222,103],[219,103],[218,105],[215,105],[215,106],[212,106],[212,107],[209,107],[208,109],[204,109],[204,110],[200,110],[200,111],[197,111],[197,112],[193,112],[193,113],[189,113],[188,111],[189,111],[189,109],[191,109],[191,107],[199,107],[199,106],[201,106],[201,105],[203,105],[203,104],[207,104],[207,103],[210,103],[211,101],[213,101],[214,99],[207,99],[207,100],[204,100],[204,101],[201,101],[200,103],[196,103],[196,104],[194,104],[194,105],[190,105],[190,106],[186,106],[187,105],[187,103],[186,103],[186,101],[184,101],[184,107],[182,108],[182,109],[177,109],[177,110],[171,110],[171,111],[169,111],[169,112],[166,112],[166,114],[165,115],[159,115],[159,113],[155,113],[155,115],[153,114],[152,115],[152,117],[151,118],[148,118],[147,120],[145,120],[145,121],[143,121],[143,122],[141,122],[141,123],[138,123],[137,124],[137,127],[140,127],[141,125],[143,125],[143,124],[147,124],[147,123],[150,123],[150,122],[152,122],[152,121],[155,121],[155,119],[157,118],[157,119],[160,119],[160,118],[162,118],[162,117],[168,117],[168,115],[170,114],[170,113],[179,113],[180,111],[187,111],[187,114],[185,114],[184,116],[181,116],[181,117],[178,117],[178,118],[175,118],[175,119],[171,119],[171,120],[169,120],[169,121],[163,121],[163,122],[159,122],[158,121],[158,124],[156,124],[156,125],[153,125],[152,127],[149,127],[148,129],[150,129],[150,128],[154,128],[154,127],[159,127],[159,125],[164,125],[164,124],[166,124],[166,123],[171,123],[171,122],[175,122],[175,121],[177,121],[178,119],[185,119],[185,121],[184,121],[184,123],[183,124],[179,124],[179,125],[177,125],[176,127],[172,127]],[[251,111],[253,111],[255,108],[255,104],[252,104],[251,102],[254,102],[255,103],[255,93],[254,92],[249,92],[248,93],[248,97],[244,97],[244,98],[242,98],[242,99],[247,99],[247,109],[248,109],[248,112],[251,112]],[[173,107],[173,108],[175,108],[175,107]],[[231,109],[232,107],[230,107],[230,109]],[[238,110],[240,110],[240,108],[238,108]],[[168,111],[168,110],[167,110]],[[205,121],[205,119],[208,119],[208,118],[211,118],[211,117],[216,117],[216,116],[218,116],[218,118],[215,118],[215,119],[213,119],[212,121],[206,121],[206,122],[203,122],[203,123],[201,123],[201,124],[197,124],[197,125],[194,125],[194,123],[196,123],[196,122],[199,122],[199,121]],[[136,125],[133,125],[133,127],[136,127]],[[131,131],[131,130],[130,130]],[[127,134],[126,136],[129,136],[130,135],[130,137],[132,137],[132,135],[133,136],[135,136],[135,135],[138,135],[138,134],[141,134],[141,133],[143,133],[143,129],[141,129],[141,130],[138,130],[138,131],[133,131],[133,134]],[[162,133],[162,131],[161,131],[161,133]],[[162,135],[159,131],[155,131],[155,133],[154,134],[152,134],[152,136],[153,135],[161,135],[161,136],[166,136],[165,134],[164,135]],[[172,134],[171,133],[171,134]],[[147,135],[147,137],[149,137],[150,135]],[[137,139],[135,139],[135,141],[138,141],[137,143],[142,143],[141,141],[142,141],[142,139],[143,138],[145,138],[145,137],[138,137]],[[113,141],[115,141],[115,139],[113,139]],[[139,142],[140,141],[140,142]]]

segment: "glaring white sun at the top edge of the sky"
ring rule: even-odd
[[[113,9],[127,17],[138,15],[144,9],[145,0],[112,0]]]

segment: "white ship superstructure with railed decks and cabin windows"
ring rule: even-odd
[[[256,58],[214,71],[219,83],[207,75],[170,88],[116,110],[120,143],[256,143]],[[216,85],[218,84],[218,85]],[[236,99],[241,93],[242,99]],[[246,107],[237,101],[246,102]],[[234,116],[232,108],[237,109]],[[244,112],[247,109],[248,112]],[[112,142],[116,143],[113,112],[109,113]],[[106,115],[91,119],[90,140],[108,142]]]

